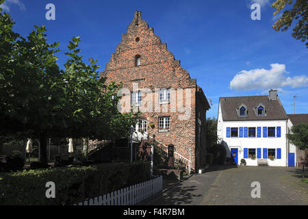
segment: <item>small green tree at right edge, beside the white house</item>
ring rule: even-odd
[[[298,149],[305,151],[308,149],[308,124],[294,125],[291,129],[291,133],[287,133],[287,138],[291,144],[294,144]],[[305,164],[303,165],[303,174],[305,171]],[[304,175],[303,175],[304,177]]]

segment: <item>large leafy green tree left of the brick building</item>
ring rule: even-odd
[[[114,140],[129,135],[137,115],[118,112],[121,84],[106,85],[97,61],[83,62],[79,37],[69,42],[60,69],[59,43],[47,43],[44,26],[34,26],[26,39],[12,31],[13,25],[9,14],[0,13],[0,122],[6,124],[0,136],[18,132],[39,138],[46,162],[47,136]]]

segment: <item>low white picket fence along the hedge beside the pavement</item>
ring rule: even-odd
[[[90,198],[78,205],[136,205],[162,191],[162,176],[137,185]]]

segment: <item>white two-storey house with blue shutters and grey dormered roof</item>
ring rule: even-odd
[[[285,135],[288,123],[277,90],[264,96],[219,99],[218,143],[236,164],[244,158],[247,166],[295,166],[296,149]]]

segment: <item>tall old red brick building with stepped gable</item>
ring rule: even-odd
[[[166,43],[136,11],[112,53],[101,77],[123,82],[120,110],[139,110],[142,120],[136,131],[146,133],[163,144],[174,144],[175,151],[189,159],[192,169],[205,164],[205,121],[210,106]]]

